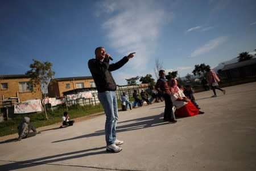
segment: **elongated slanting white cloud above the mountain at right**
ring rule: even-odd
[[[192,52],[191,57],[196,57],[198,55],[209,52],[210,50],[216,48],[218,45],[225,42],[226,39],[227,37],[221,36],[221,37],[217,37],[216,39],[208,41],[203,46],[201,46],[200,48],[197,48],[194,52]]]

